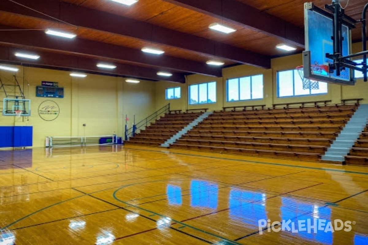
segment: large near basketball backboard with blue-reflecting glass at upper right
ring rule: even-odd
[[[333,64],[326,54],[333,54],[333,15],[311,2],[304,3],[305,51],[303,52],[304,77],[321,82],[354,85],[354,72],[343,68],[340,76],[318,69],[319,65]],[[342,55],[351,53],[350,27],[342,25]]]

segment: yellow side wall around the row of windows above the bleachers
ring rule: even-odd
[[[352,52],[361,51],[361,43],[354,43]],[[222,70],[222,78],[213,78],[204,75],[189,75],[186,79],[186,84],[180,84],[181,98],[177,100],[165,100],[165,89],[175,87],[177,84],[168,82],[156,83],[156,109],[164,104],[170,103],[171,109],[193,109],[193,108],[209,108],[210,110],[219,110],[222,107],[244,106],[244,105],[266,105],[272,107],[272,104],[291,103],[291,102],[308,102],[331,100],[333,104],[340,103],[342,99],[363,98],[362,103],[368,103],[368,83],[363,82],[363,79],[357,79],[354,86],[341,86],[337,84],[328,84],[328,93],[312,96],[298,96],[277,98],[277,83],[276,74],[278,71],[295,69],[302,65],[302,54],[289,55],[271,60],[271,69],[262,69],[249,65],[238,65]],[[231,78],[239,78],[244,76],[252,76],[263,74],[263,100],[248,100],[248,101],[226,101],[226,80]],[[216,81],[216,103],[188,105],[188,86],[195,83],[205,83]]]

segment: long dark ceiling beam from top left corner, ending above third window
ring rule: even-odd
[[[75,26],[134,37],[198,53],[213,55],[241,64],[270,68],[270,57],[188,33],[178,32],[118,15],[65,3],[59,0],[17,0],[18,3]],[[55,21],[11,1],[0,1],[0,10],[34,18]]]

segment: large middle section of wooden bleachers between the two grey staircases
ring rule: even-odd
[[[224,107],[171,147],[318,161],[358,106],[328,102]]]

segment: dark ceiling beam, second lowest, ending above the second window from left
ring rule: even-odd
[[[15,29],[10,26],[0,26],[1,29]],[[93,57],[107,58],[135,63],[137,65],[149,65],[160,70],[169,70],[185,73],[198,73],[209,76],[222,76],[222,69],[211,67],[205,63],[186,60],[168,55],[147,54],[141,50],[127,48],[113,44],[101,43],[91,40],[66,39],[45,34],[39,30],[13,30],[4,31],[0,35],[0,43],[17,44],[29,47],[44,48],[50,51],[63,51],[64,53],[89,55]]]

